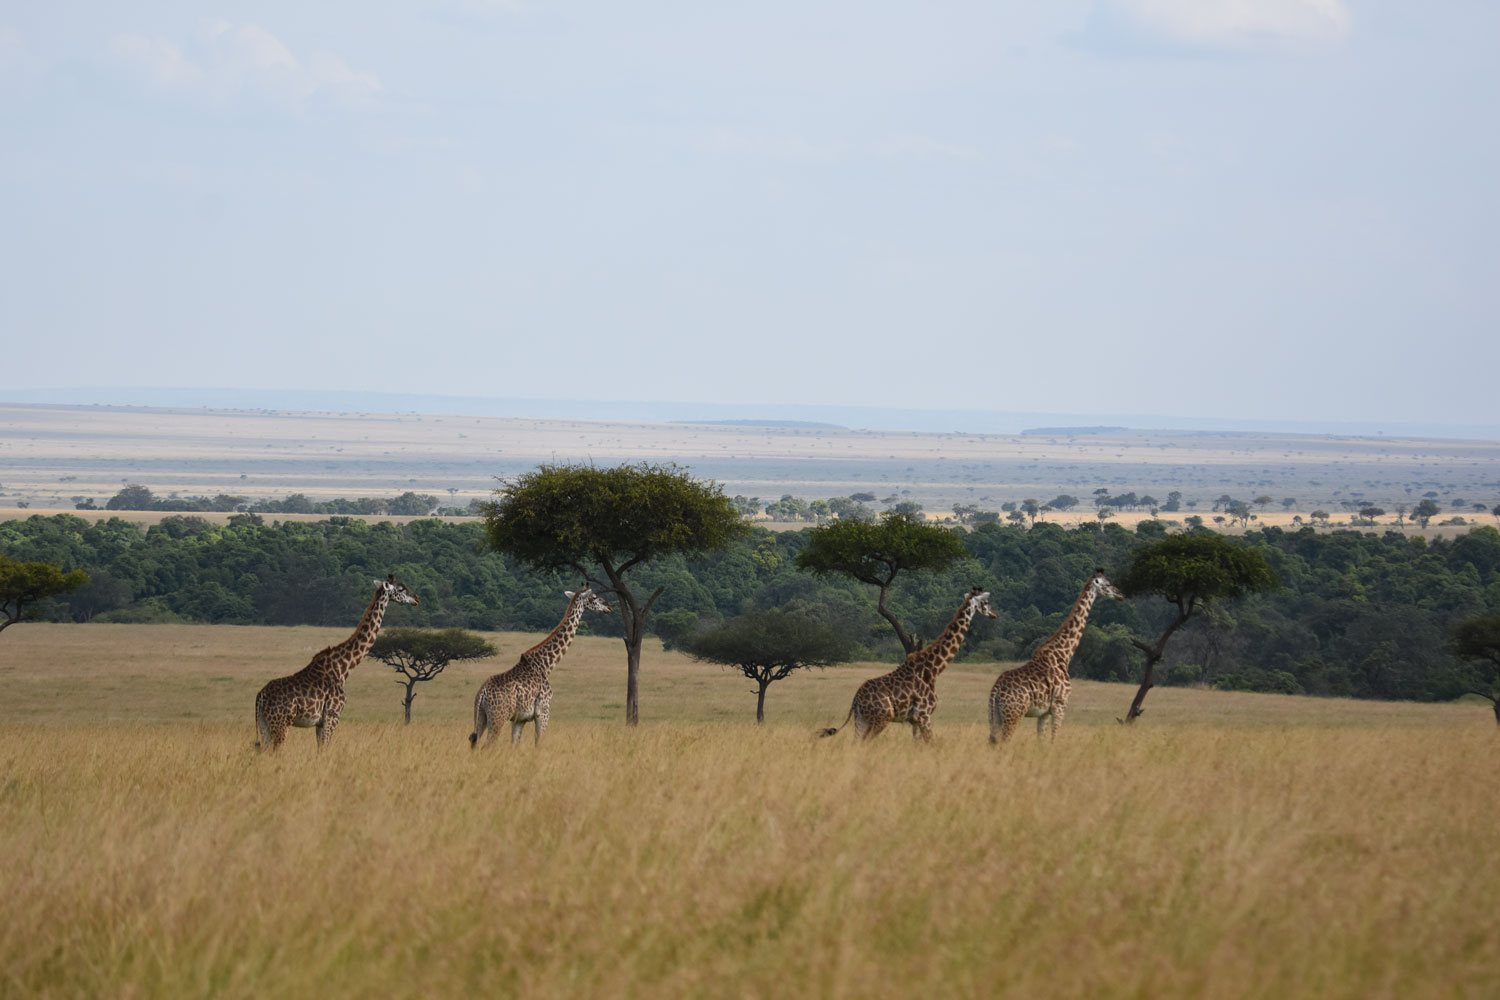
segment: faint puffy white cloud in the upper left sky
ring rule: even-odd
[[[380,78],[350,67],[332,52],[298,58],[291,46],[258,24],[214,21],[189,57],[176,42],[138,33],[117,34],[110,51],[153,84],[183,87],[212,97],[255,94],[302,103],[326,94],[344,105],[364,105],[381,91]]]

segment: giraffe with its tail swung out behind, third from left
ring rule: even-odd
[[[861,739],[873,739],[891,723],[910,723],[912,739],[932,741],[932,715],[938,706],[938,675],[958,652],[975,613],[994,618],[990,592],[974,588],[963,595],[963,604],[948,627],[927,646],[912,652],[890,673],[870,678],[854,693],[849,715],[834,729],[819,736],[832,736],[854,718],[854,732]]]

